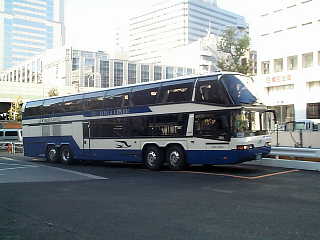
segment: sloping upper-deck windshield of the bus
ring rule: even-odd
[[[242,75],[223,75],[221,81],[235,104],[253,104],[257,98],[252,94],[252,80]]]

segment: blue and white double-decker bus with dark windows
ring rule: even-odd
[[[23,110],[24,154],[49,162],[143,162],[183,169],[270,152],[274,115],[251,79],[217,72],[47,98]]]

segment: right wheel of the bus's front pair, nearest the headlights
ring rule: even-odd
[[[166,159],[171,170],[183,170],[187,167],[186,154],[182,147],[173,145],[166,151]]]

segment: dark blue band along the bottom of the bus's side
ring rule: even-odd
[[[63,137],[24,137],[24,155],[28,157],[45,157],[47,144],[68,144],[75,159],[143,162],[140,150],[129,149],[90,149],[83,150],[72,136]],[[270,153],[270,147],[250,150],[189,150],[186,151],[189,164],[237,164],[255,160],[258,154],[262,157]]]

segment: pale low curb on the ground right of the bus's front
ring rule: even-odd
[[[320,162],[309,162],[300,160],[263,158],[261,160],[246,162],[244,164],[320,171]]]

